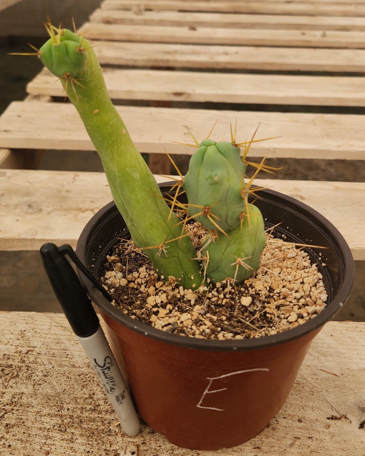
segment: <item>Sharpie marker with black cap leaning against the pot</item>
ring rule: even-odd
[[[101,329],[91,301],[64,255],[69,255],[82,273],[95,284],[109,301],[112,301],[111,295],[80,262],[70,245],[63,245],[58,248],[55,244],[48,243],[42,245],[40,252],[53,292],[92,367],[95,369],[119,417],[122,429],[128,435],[137,435],[139,420],[127,385]]]

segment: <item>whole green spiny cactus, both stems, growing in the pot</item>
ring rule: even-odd
[[[196,289],[207,278],[231,279],[238,285],[258,269],[266,236],[257,207],[248,202],[246,164],[232,140],[203,140],[178,184],[186,192],[183,209],[207,229],[196,250],[180,218],[161,195],[153,174],[111,103],[101,67],[90,43],[76,33],[47,24],[51,38],[38,56],[60,78],[101,157],[111,192],[134,244],[152,261],[164,280],[175,278]],[[143,127],[141,127],[143,128]],[[176,197],[172,206],[176,204]],[[181,205],[180,205],[181,209]]]

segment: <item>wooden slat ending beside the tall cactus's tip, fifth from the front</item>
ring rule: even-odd
[[[217,46],[95,41],[101,64],[135,67],[365,72],[363,49]]]

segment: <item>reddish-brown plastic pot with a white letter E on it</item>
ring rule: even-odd
[[[167,191],[167,188],[162,189]],[[277,192],[258,192],[268,226],[307,249],[328,290],[328,306],[303,325],[250,340],[205,340],[154,329],[112,306],[85,276],[87,291],[107,324],[112,350],[129,382],[138,413],[178,446],[216,450],[259,434],[281,409],[313,337],[343,306],[354,261],[339,231],[305,204]],[[113,202],[86,225],[77,244],[81,261],[97,277],[116,238],[127,229]],[[326,267],[322,263],[326,263]]]

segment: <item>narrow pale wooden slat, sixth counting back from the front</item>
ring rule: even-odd
[[[235,30],[86,22],[79,30],[90,39],[152,43],[242,46],[365,48],[365,31]]]

